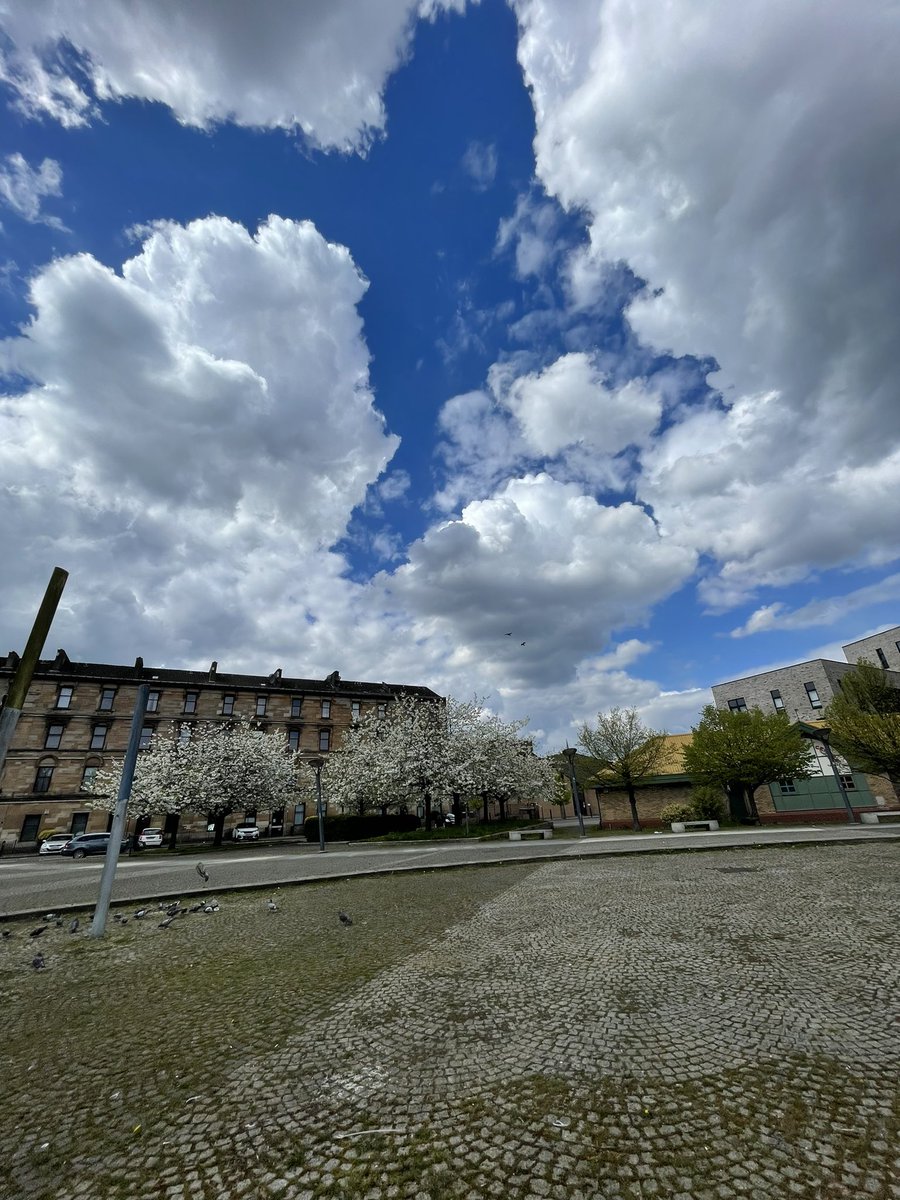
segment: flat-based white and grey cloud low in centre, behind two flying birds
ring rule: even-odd
[[[636,505],[608,508],[538,474],[432,527],[382,582],[448,637],[450,670],[491,667],[505,684],[534,685],[570,678],[694,566],[694,554],[661,539]]]

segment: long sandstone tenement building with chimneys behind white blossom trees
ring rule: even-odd
[[[0,695],[18,666],[12,652],[0,660]],[[254,721],[269,733],[283,732],[292,750],[326,755],[340,745],[343,731],[372,709],[386,708],[400,695],[439,702],[430,688],[409,684],[362,683],[341,679],[228,674],[212,662],[209,671],[131,667],[103,662],[72,662],[65,650],[41,660],[0,774],[0,846],[34,845],[42,832],[80,833],[106,829],[109,814],[85,803],[96,772],[125,756],[138,686],[149,685],[142,745],[154,732],[174,722],[188,728],[197,721]],[[272,828],[286,832],[302,822],[296,811],[260,814]],[[235,814],[229,824],[242,820]],[[145,822],[146,823],[146,822]],[[206,815],[182,814],[179,836],[200,836]]]

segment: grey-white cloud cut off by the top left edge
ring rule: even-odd
[[[184,125],[296,130],[314,145],[359,150],[384,128],[382,92],[415,19],[464,4],[8,0],[0,79],[22,112],[68,127],[91,120],[97,102],[134,96],[167,104]]]

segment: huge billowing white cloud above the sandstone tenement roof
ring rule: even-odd
[[[329,547],[397,445],[368,386],[365,289],[346,248],[280,217],[253,235],[160,224],[121,274],[89,254],[44,268],[0,346],[28,380],[0,401],[12,610],[59,563],[78,580],[62,634],[110,654],[292,644],[336,604]]]

